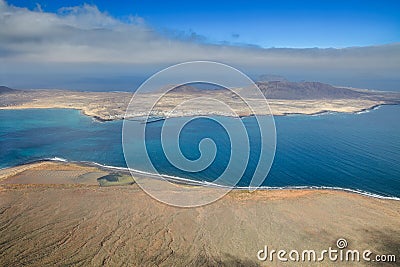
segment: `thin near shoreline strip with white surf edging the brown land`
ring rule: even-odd
[[[136,177],[145,176],[147,178],[153,179],[160,179],[157,174],[148,173],[140,170],[129,169],[125,167],[116,167],[116,166],[108,166],[103,165],[97,162],[86,162],[86,161],[68,161],[63,158],[45,158],[39,160],[29,161],[23,164],[19,164],[16,166],[10,166],[0,169],[0,184],[2,181],[12,178],[13,176],[29,170],[31,168],[35,168],[36,166],[40,166],[41,164],[45,163],[56,163],[56,164],[75,164],[80,167],[94,167],[101,171],[110,172],[110,173],[117,173],[117,174],[125,174],[125,175],[134,175]],[[11,172],[9,175],[3,174],[4,172]],[[223,186],[219,184],[215,184],[212,182],[207,181],[197,181],[192,180],[184,177],[178,176],[171,176],[171,175],[162,175],[163,179],[180,185],[190,185],[190,186],[203,186],[208,188],[231,188],[229,186]],[[298,186],[281,186],[281,187],[274,187],[274,186],[260,186],[257,188],[252,187],[245,187],[245,186],[237,186],[232,188],[234,192],[252,192],[252,191],[330,191],[330,192],[344,192],[349,194],[355,194],[359,196],[364,196],[367,198],[373,199],[382,199],[382,200],[393,200],[393,201],[400,201],[400,197],[396,196],[385,196],[379,195],[377,193],[368,192],[365,190],[360,189],[352,189],[352,188],[343,188],[343,187],[335,187],[335,186],[307,186],[307,185],[298,185]]]

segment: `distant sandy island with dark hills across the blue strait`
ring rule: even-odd
[[[257,115],[318,114],[322,112],[360,112],[385,104],[399,104],[400,94],[352,88],[333,87],[316,82],[259,82],[270,110],[264,108],[264,99],[248,95]],[[218,101],[227,104],[239,116],[252,115],[249,107],[238,97],[246,88],[233,91],[199,90],[191,86],[177,87],[164,95],[154,106],[152,116],[231,115]],[[140,101],[127,111],[132,93],[78,92],[67,90],[12,90],[0,88],[0,109],[72,108],[99,120],[117,120],[146,116],[154,93],[140,95]],[[214,99],[217,101],[210,101]],[[181,103],[187,107],[173,109]],[[173,112],[171,112],[173,111]]]

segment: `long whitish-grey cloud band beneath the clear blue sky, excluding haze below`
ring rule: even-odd
[[[264,49],[206,44],[197,39],[168,37],[154,31],[140,17],[120,21],[87,4],[46,13],[41,8],[32,11],[0,0],[3,78],[21,67],[28,72],[29,66],[35,64],[54,64],[54,68],[60,64],[71,64],[71,68],[84,68],[84,64],[140,67],[188,60],[220,61],[246,70],[262,73],[264,69],[280,74],[298,70],[321,75],[375,73],[395,78],[400,69],[399,44],[344,49]],[[68,69],[60,68],[59,72],[62,71],[67,73]]]

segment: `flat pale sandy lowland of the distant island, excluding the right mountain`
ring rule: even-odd
[[[350,90],[350,89],[349,89]],[[359,113],[374,109],[381,105],[400,104],[400,93],[370,91],[359,92],[355,89],[357,96],[340,98],[332,91],[331,97],[292,95],[288,98],[266,98],[269,109],[265,110],[265,99],[249,98],[252,108],[258,110],[256,115],[318,115],[329,112]],[[135,119],[144,117],[183,117],[183,116],[232,116],[239,117],[254,115],[252,110],[245,104],[244,100],[224,91],[205,92],[173,92],[164,95],[154,106],[152,100],[154,94],[145,93],[140,95],[142,101],[134,109],[128,108],[132,94],[128,92],[79,92],[67,90],[38,90],[16,91],[14,93],[2,94],[0,109],[75,109],[83,115],[90,116],[98,121],[114,121],[124,118]],[[300,97],[300,98],[299,98]],[[200,99],[216,99],[231,107],[227,112],[221,106],[213,102],[204,102]],[[193,101],[193,100],[196,101]],[[190,106],[182,106],[179,109],[173,107],[181,103],[189,102]],[[152,106],[151,112],[147,110]]]

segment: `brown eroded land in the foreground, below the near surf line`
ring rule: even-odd
[[[2,264],[280,266],[258,261],[257,252],[266,245],[321,251],[336,248],[339,238],[351,249],[400,255],[397,200],[338,190],[234,190],[183,209],[136,184],[99,186],[115,171],[55,161],[0,170]]]

